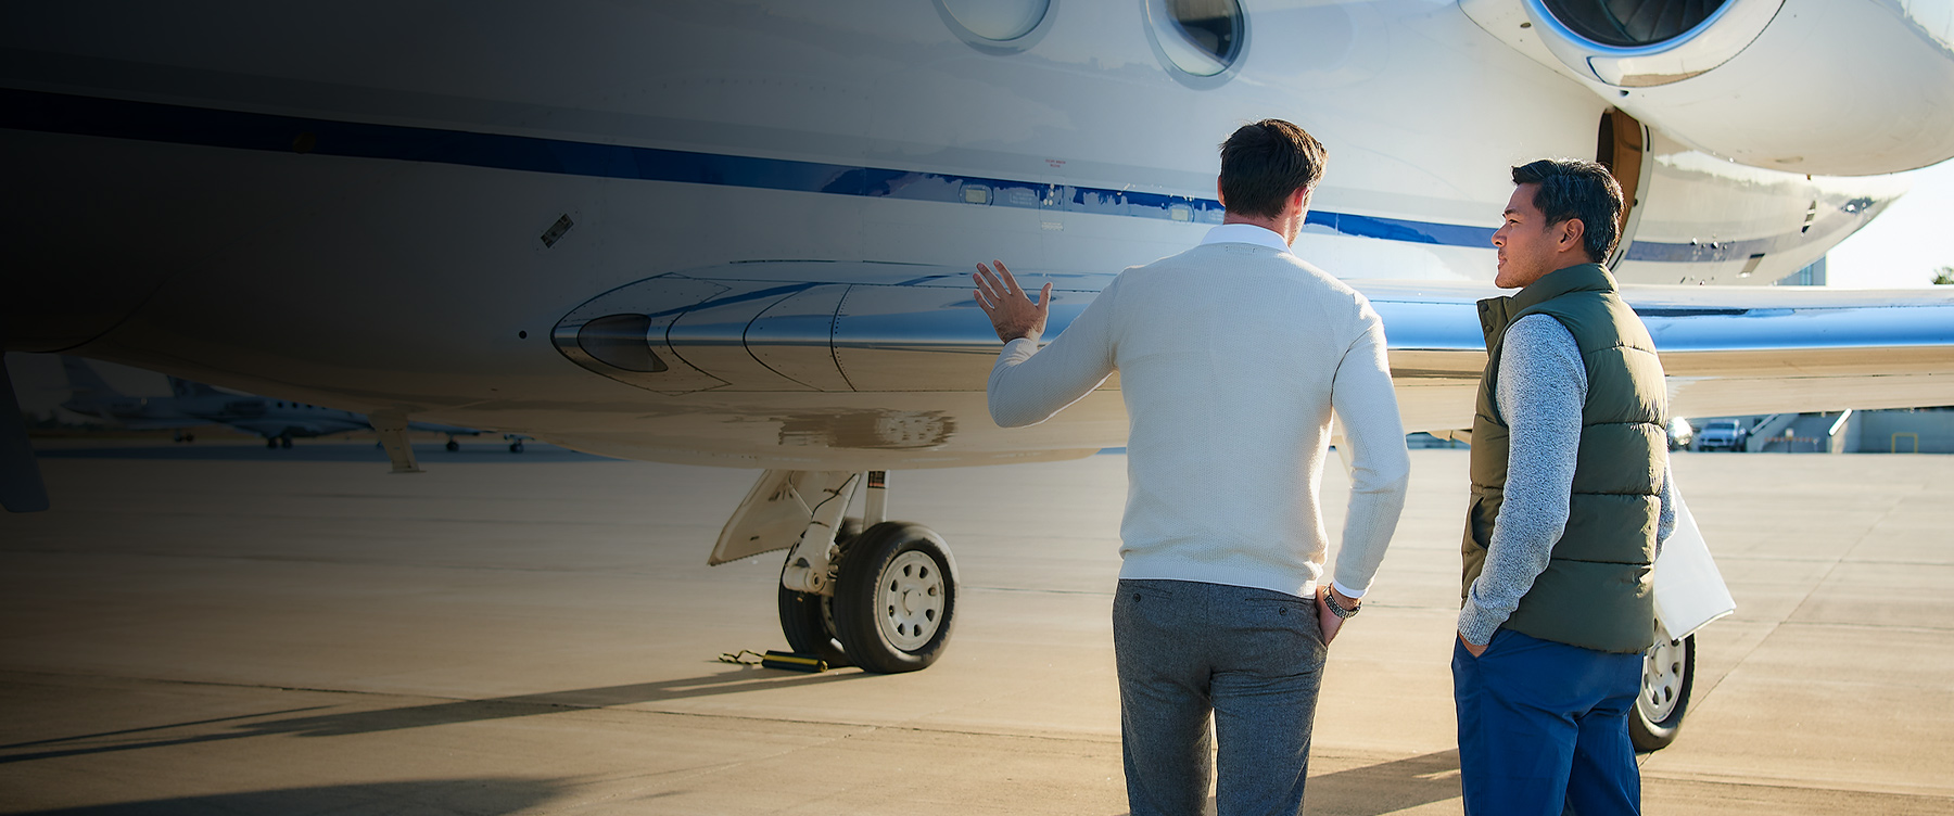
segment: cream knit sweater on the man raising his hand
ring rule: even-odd
[[[998,426],[1043,422],[1120,371],[1129,418],[1120,578],[1307,597],[1329,535],[1317,492],[1331,414],[1352,453],[1337,588],[1362,595],[1405,504],[1411,461],[1364,295],[1270,230],[1223,224],[1120,273],[1043,349],[1004,346]]]

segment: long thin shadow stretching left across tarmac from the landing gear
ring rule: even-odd
[[[684,679],[664,679],[657,683],[545,691],[537,695],[430,703],[406,709],[348,711],[342,714],[289,716],[281,720],[236,724],[231,726],[231,730],[217,734],[174,736],[149,742],[115,742],[109,746],[76,746],[78,742],[127,736],[133,732],[193,728],[201,724],[219,722],[219,720],[195,720],[195,722],[178,722],[168,726],[117,730],[104,734],[78,734],[55,740],[35,740],[35,742],[0,746],[0,752],[10,752],[16,748],[49,746],[47,750],[41,752],[0,755],[0,765],[35,761],[35,759],[59,759],[72,755],[115,754],[115,752],[145,750],[145,748],[193,746],[203,742],[225,742],[225,740],[242,740],[252,736],[274,736],[274,734],[287,734],[287,736],[377,734],[403,728],[430,728],[430,726],[446,726],[457,722],[506,720],[514,716],[553,714],[553,713],[580,711],[580,709],[610,709],[619,705],[658,703],[658,701],[674,701],[688,697],[711,697],[711,695],[756,691],[756,689],[780,689],[789,685],[799,687],[799,685],[838,683],[854,677],[868,677],[868,673],[850,670],[801,673],[801,672],[743,668],[737,672],[719,672]],[[225,720],[277,716],[297,711],[313,711],[313,709],[289,709],[270,714],[227,716]],[[61,748],[63,744],[66,744],[66,748]]]

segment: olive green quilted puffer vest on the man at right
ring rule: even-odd
[[[1669,461],[1669,410],[1649,330],[1616,295],[1614,277],[1600,264],[1557,269],[1518,295],[1479,301],[1487,361],[1471,428],[1460,597],[1485,566],[1505,498],[1510,439],[1493,394],[1507,326],[1528,314],[1550,314],[1573,334],[1589,390],[1567,527],[1505,627],[1602,652],[1641,652],[1655,642],[1655,525]]]

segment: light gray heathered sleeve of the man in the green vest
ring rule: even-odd
[[[1460,634],[1471,644],[1493,640],[1518,609],[1520,595],[1548,568],[1553,543],[1567,527],[1587,402],[1587,369],[1573,334],[1546,314],[1528,314],[1508,326],[1493,398],[1512,437],[1507,494],[1493,521],[1485,568],[1460,609]]]

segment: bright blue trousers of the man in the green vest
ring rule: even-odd
[[[1460,781],[1467,816],[1641,812],[1641,771],[1628,714],[1641,654],[1610,654],[1493,632],[1473,658],[1452,644]]]

